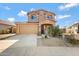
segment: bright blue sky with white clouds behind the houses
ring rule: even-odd
[[[0,19],[11,22],[28,21],[27,12],[45,9],[56,14],[60,27],[79,21],[79,4],[75,3],[0,3]]]

